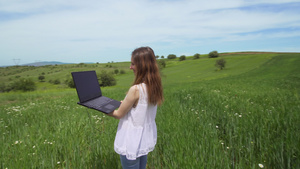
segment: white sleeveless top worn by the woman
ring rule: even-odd
[[[135,86],[139,89],[138,104],[120,119],[114,142],[115,152],[129,160],[147,155],[157,140],[157,105],[148,104],[146,84]]]

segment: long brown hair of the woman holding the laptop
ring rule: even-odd
[[[136,66],[133,85],[144,82],[147,86],[148,102],[160,105],[163,102],[163,88],[154,51],[150,47],[140,47],[132,52],[131,57]]]

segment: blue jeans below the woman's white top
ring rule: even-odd
[[[136,158],[136,160],[128,160],[126,156],[120,155],[123,169],[145,169],[147,164],[147,155]]]

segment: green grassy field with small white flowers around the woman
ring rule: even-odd
[[[300,168],[300,54],[232,53],[166,60],[165,102],[147,168]],[[117,100],[133,81],[129,62],[0,69],[1,83],[20,77],[34,92],[0,93],[1,168],[121,168],[113,150],[118,120],[78,106],[75,89],[53,85],[70,72],[125,70],[102,92]],[[37,77],[44,72],[45,82]]]

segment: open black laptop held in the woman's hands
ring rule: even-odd
[[[79,98],[77,104],[106,114],[120,107],[121,102],[102,96],[95,71],[72,72],[71,74]]]

